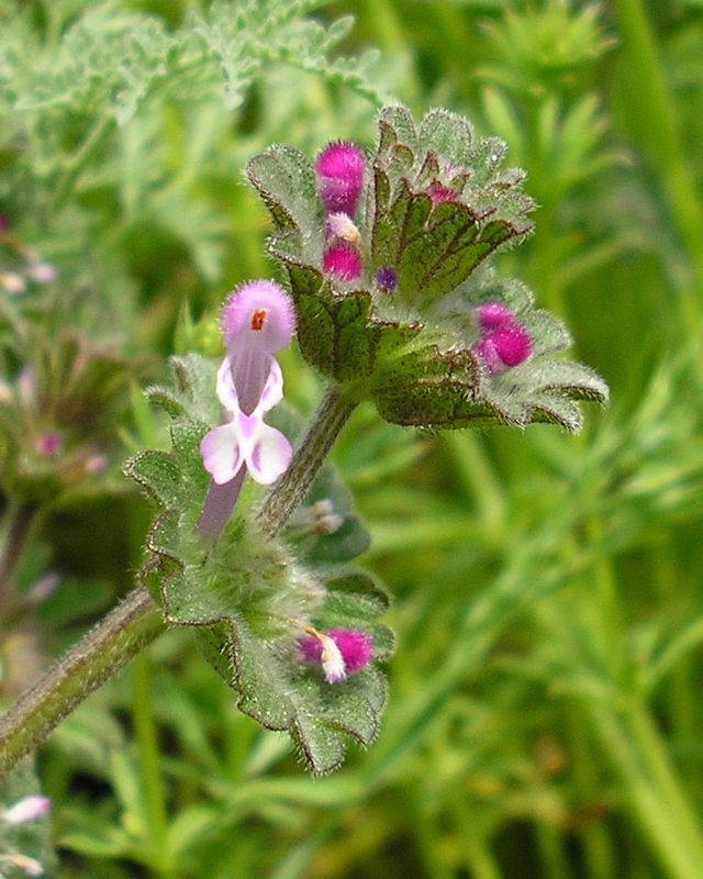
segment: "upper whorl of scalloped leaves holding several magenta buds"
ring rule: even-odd
[[[578,401],[605,401],[607,387],[555,358],[566,327],[490,265],[532,230],[524,171],[440,108],[416,124],[386,107],[378,130],[368,155],[332,143],[311,162],[274,146],[247,167],[271,211],[269,253],[288,275],[303,357],[394,424],[579,430]]]

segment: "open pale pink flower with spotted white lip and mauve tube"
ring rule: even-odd
[[[203,466],[214,483],[200,520],[203,535],[220,532],[246,472],[259,485],[269,486],[290,463],[290,443],[266,424],[264,416],[283,397],[283,377],[274,355],[290,344],[294,327],[290,298],[272,281],[241,285],[223,307],[222,335],[227,352],[217,371],[216,392],[225,423],[207,433],[200,444]],[[224,512],[217,487],[228,491]]]

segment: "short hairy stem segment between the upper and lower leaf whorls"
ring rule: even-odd
[[[290,514],[308,493],[355,405],[356,403],[346,400],[336,386],[333,386],[323,398],[308,433],[293,455],[290,467],[257,512],[256,518],[261,530],[271,537],[283,527]]]

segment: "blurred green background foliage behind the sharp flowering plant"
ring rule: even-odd
[[[219,42],[234,8],[246,56]],[[436,438],[358,410],[334,458],[395,596],[379,741],[310,781],[169,633],[40,755],[57,875],[700,879],[702,38],[693,0],[0,2],[0,213],[77,296],[67,329],[145,381],[176,344],[209,349],[224,292],[271,270],[247,159],[368,145],[391,93],[506,141],[539,207],[502,270],[613,389],[577,438]],[[295,352],[283,367],[309,412],[315,377]],[[123,403],[115,469],[165,438]],[[24,668],[137,565],[141,501],[86,504],[32,520],[3,620]]]

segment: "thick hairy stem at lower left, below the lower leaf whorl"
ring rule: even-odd
[[[163,631],[148,592],[135,589],[0,717],[0,777]]]

